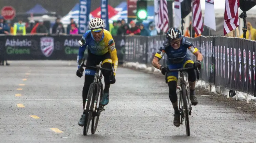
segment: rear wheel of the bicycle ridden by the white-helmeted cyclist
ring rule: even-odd
[[[100,94],[100,98],[99,98],[99,94]],[[101,99],[103,96],[103,84],[101,83],[100,86],[98,87],[97,90],[97,95],[95,96],[95,100],[96,102],[96,110],[93,114],[93,118],[91,120],[91,133],[94,134],[96,132],[97,126],[98,126],[98,122],[99,122],[99,118],[100,118],[100,113],[103,110],[103,106],[100,104]],[[96,118],[96,120],[95,120]]]

